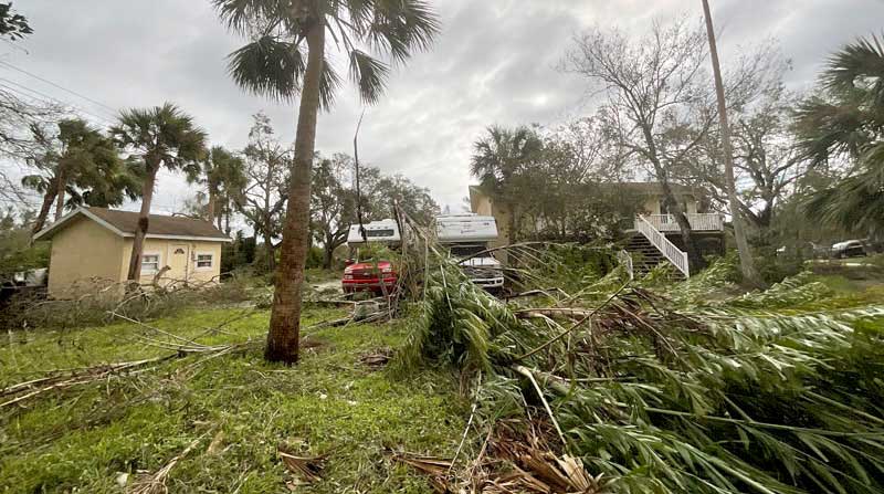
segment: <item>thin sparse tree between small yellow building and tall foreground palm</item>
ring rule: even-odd
[[[288,201],[288,169],[292,149],[276,139],[270,118],[259,113],[249,132],[245,157],[246,186],[234,196],[236,209],[264,240],[267,269],[276,269],[273,239],[282,233],[283,214]]]

